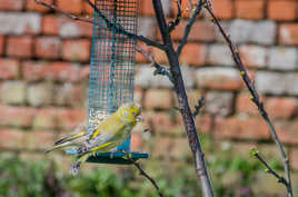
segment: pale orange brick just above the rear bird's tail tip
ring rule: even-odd
[[[33,130],[23,136],[23,145],[28,150],[44,150],[54,142],[54,134],[48,130]]]

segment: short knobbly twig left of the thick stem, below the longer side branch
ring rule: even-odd
[[[169,72],[169,70],[168,70],[166,67],[159,65],[159,63],[155,60],[155,57],[153,57],[152,55],[150,55],[149,52],[146,52],[139,45],[136,45],[136,49],[137,49],[138,52],[142,53],[149,61],[151,61],[152,67],[156,68],[155,75],[167,76],[168,79],[169,79],[171,82],[173,82],[173,81],[172,81],[172,76],[171,76],[171,73]]]

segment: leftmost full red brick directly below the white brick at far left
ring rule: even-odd
[[[33,40],[31,37],[9,37],[7,55],[18,58],[31,58],[32,45]]]

